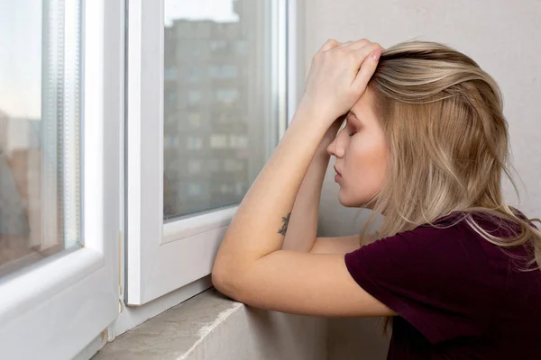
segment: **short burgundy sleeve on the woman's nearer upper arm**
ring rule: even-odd
[[[491,313],[488,259],[461,226],[382,238],[346,254],[345,265],[364,291],[432,344],[479,335]]]

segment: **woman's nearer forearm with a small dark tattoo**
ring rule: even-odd
[[[298,109],[271,159],[243,198],[218,249],[215,267],[243,268],[282,249],[288,215],[326,132],[323,116]]]

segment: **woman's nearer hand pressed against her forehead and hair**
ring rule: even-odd
[[[299,106],[323,115],[331,126],[364,93],[381,51],[380,44],[365,39],[343,44],[327,40],[312,59]]]

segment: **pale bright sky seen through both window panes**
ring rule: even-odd
[[[0,0],[0,111],[11,117],[41,118],[44,1]],[[238,21],[233,0],[164,0],[164,8],[166,25],[173,19]]]

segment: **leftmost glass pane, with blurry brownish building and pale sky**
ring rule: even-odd
[[[0,276],[79,243],[76,0],[0,0]]]

